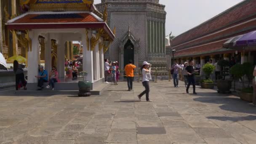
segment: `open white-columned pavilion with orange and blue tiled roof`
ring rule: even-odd
[[[9,43],[12,53],[8,52],[8,56],[18,55],[21,47],[21,53],[27,57],[30,85],[37,83],[35,75],[42,59],[45,69],[50,71],[55,66],[59,77],[64,78],[65,58],[73,57],[71,41],[80,41],[83,45],[86,79],[93,85],[103,83],[104,52],[115,38],[106,23],[107,7],[100,13],[93,0],[20,0],[19,5],[23,13],[13,14],[6,21],[4,31],[16,44]]]

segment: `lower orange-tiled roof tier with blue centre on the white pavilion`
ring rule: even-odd
[[[107,23],[90,11],[64,11],[64,12],[27,12],[7,23],[8,29],[99,29],[114,40],[115,35],[109,29]]]

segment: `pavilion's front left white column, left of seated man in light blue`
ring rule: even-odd
[[[38,42],[38,33],[37,32],[29,32],[29,37],[32,40],[32,51],[28,51],[27,54],[27,65],[28,65],[28,83],[37,83],[38,75],[38,51],[39,51],[39,42]]]

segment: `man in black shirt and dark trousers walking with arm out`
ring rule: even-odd
[[[192,83],[193,85],[193,93],[197,94],[195,92],[195,72],[198,72],[199,70],[195,70],[194,67],[194,61],[190,60],[189,61],[189,65],[186,67],[187,70],[187,79],[188,79],[188,84],[187,84],[187,88],[186,88],[186,92],[189,93],[189,87]]]

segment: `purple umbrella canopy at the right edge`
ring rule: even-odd
[[[256,31],[249,32],[236,42],[236,46],[252,46],[256,45]]]

